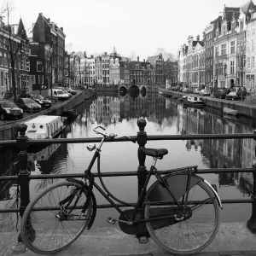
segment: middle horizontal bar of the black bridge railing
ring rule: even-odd
[[[189,167],[189,166],[188,166]],[[185,168],[177,168],[166,171],[158,171],[160,174],[168,174],[171,172],[181,171]],[[255,172],[253,168],[212,168],[212,169],[201,169],[195,172],[196,174],[207,174],[207,173],[225,173],[225,172]],[[92,173],[94,177],[99,177],[98,173]],[[48,178],[67,178],[67,177],[83,177],[84,173],[70,173],[70,174],[40,174],[40,175],[30,175],[29,179],[48,179]],[[102,177],[125,177],[125,176],[137,176],[137,171],[133,172],[101,172]],[[16,176],[1,176],[0,181],[3,180],[16,180]]]

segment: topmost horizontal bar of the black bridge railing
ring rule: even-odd
[[[131,136],[133,140],[137,141],[137,136]],[[239,139],[239,138],[253,138],[256,136],[251,133],[234,133],[234,134],[191,134],[191,135],[149,135],[147,137],[148,141],[163,141],[163,140],[184,140],[184,139]],[[87,137],[87,138],[55,138],[55,139],[28,139],[28,145],[44,145],[44,144],[54,144],[54,143],[99,143],[101,141],[101,137]],[[107,143],[113,142],[129,142],[128,138],[114,138],[109,139],[106,138]],[[15,145],[15,140],[7,140],[1,141],[0,146],[12,146]]]

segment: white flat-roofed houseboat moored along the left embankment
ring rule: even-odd
[[[63,118],[55,115],[39,115],[26,121],[26,137],[30,139],[48,139],[56,137],[64,129]]]

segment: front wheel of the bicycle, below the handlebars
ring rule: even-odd
[[[88,191],[84,191],[80,197],[67,201],[70,218],[60,220],[56,214],[60,212],[59,201],[67,198],[68,192],[74,188],[81,188],[81,184],[69,181],[53,183],[33,201],[31,201],[23,214],[20,224],[20,236],[27,248],[38,254],[57,253],[76,241],[84,229],[88,226],[92,214],[92,200],[90,199],[85,216],[79,218],[81,208],[84,206]],[[77,202],[75,208],[73,201]],[[52,208],[50,211],[40,207]],[[52,206],[51,204],[54,204]],[[42,219],[40,219],[42,216]],[[73,218],[73,219],[72,219]],[[77,218],[77,219],[76,219]],[[52,237],[55,236],[55,237]]]

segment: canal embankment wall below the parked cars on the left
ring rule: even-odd
[[[29,119],[35,118],[42,114],[61,115],[64,111],[70,108],[75,108],[85,100],[94,96],[95,92],[92,90],[80,90],[76,95],[65,102],[55,102],[49,109],[44,109],[39,113],[27,114],[25,118],[20,120],[10,120],[9,122],[0,122],[0,141],[15,140],[18,135],[18,125],[24,123]]]

